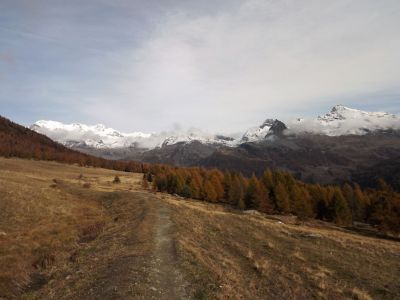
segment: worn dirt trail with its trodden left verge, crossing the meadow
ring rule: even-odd
[[[125,254],[108,265],[94,298],[190,299],[179,269],[169,207],[150,193],[132,192],[129,197],[140,213],[131,216]]]

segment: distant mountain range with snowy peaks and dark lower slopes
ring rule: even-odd
[[[103,125],[54,121],[38,121],[30,128],[69,148],[107,159],[217,167],[245,175],[282,169],[321,184],[356,180],[371,186],[379,177],[400,178],[396,164],[400,161],[400,117],[342,105],[312,119],[267,119],[239,137],[201,131],[127,134]],[[389,173],[383,166],[391,163]]]

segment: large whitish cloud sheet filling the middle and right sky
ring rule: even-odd
[[[398,87],[399,8],[251,0],[213,16],[177,12],[124,58],[112,92],[145,123],[239,130],[288,106]]]

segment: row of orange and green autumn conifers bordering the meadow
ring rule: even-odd
[[[292,174],[267,169],[261,177],[218,169],[149,166],[144,180],[156,191],[177,194],[242,210],[293,214],[338,225],[364,222],[382,231],[400,232],[400,194],[383,180],[376,189],[358,184],[322,186],[296,180]],[[147,183],[145,183],[147,185]]]

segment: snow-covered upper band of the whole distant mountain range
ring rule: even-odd
[[[235,147],[247,142],[272,141],[277,136],[293,133],[340,136],[364,135],[377,130],[400,130],[400,117],[384,112],[366,112],[337,105],[329,113],[314,119],[298,118],[286,123],[277,119],[267,119],[260,126],[248,129],[240,138],[236,139],[208,134],[200,130],[122,133],[101,124],[88,126],[79,123],[63,124],[43,120],[37,121],[30,128],[68,147],[154,149],[193,141]]]

